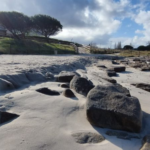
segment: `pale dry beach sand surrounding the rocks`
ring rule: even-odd
[[[100,57],[100,56],[99,56]],[[104,59],[103,56],[101,56]],[[106,58],[106,56],[105,56]],[[110,56],[108,56],[110,58]],[[30,70],[54,74],[62,70],[77,71],[97,84],[106,84],[99,75],[103,72],[94,63],[111,65],[95,56],[6,56],[0,55],[0,75],[20,74]],[[52,69],[53,68],[53,69]],[[63,92],[58,82],[30,83],[11,93],[0,93],[0,110],[20,115],[0,126],[1,150],[139,150],[142,137],[150,133],[150,93],[135,88],[131,83],[150,83],[150,72],[127,68],[118,77],[118,83],[127,87],[132,96],[139,98],[144,117],[141,139],[123,140],[105,134],[108,129],[95,128],[86,119],[86,98],[75,93],[77,99],[48,96],[35,90],[48,87]],[[109,84],[109,83],[108,83]],[[73,133],[91,131],[101,133],[106,140],[99,144],[78,144]]]

